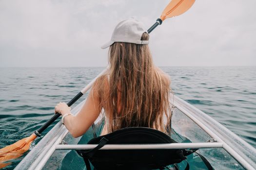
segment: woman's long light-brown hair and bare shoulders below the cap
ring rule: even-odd
[[[149,34],[143,33],[141,40],[148,39]],[[172,116],[170,79],[154,66],[148,45],[115,42],[109,49],[109,64],[108,75],[94,85],[109,129],[150,127],[166,132]]]

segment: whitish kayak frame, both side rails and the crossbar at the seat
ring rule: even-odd
[[[86,93],[93,85],[95,79],[91,81],[84,89]],[[83,102],[80,102],[72,113],[76,115]],[[173,96],[170,102],[189,119],[194,121],[209,136],[217,142],[204,143],[172,143],[172,144],[131,144],[131,145],[105,145],[101,149],[186,149],[186,148],[223,148],[236,161],[247,170],[255,170],[256,167],[256,149],[245,142],[233,132],[218,123],[215,119],[206,115],[201,110]],[[174,103],[173,103],[174,102]],[[100,114],[101,115],[101,114]],[[95,123],[102,119],[98,118]],[[40,141],[39,143],[21,160],[15,170],[41,170],[51,155],[56,150],[79,150],[92,149],[97,145],[60,145],[61,140],[68,134],[68,130],[59,121]],[[79,140],[79,139],[77,139]]]

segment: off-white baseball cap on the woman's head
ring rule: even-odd
[[[101,46],[101,49],[108,48],[115,42],[127,42],[134,44],[148,44],[148,40],[140,40],[143,33],[147,33],[144,25],[134,18],[122,20],[116,26],[111,40]]]

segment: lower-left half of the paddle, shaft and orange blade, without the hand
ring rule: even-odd
[[[91,81],[88,85],[86,85],[71,101],[69,101],[67,103],[67,105],[70,107],[84,93],[86,93],[86,91],[89,90],[90,87],[94,84],[96,79],[106,72],[106,69],[104,69],[101,73],[99,73],[98,76],[96,78],[94,78],[94,80]],[[23,139],[19,140],[18,142],[15,142],[14,144],[11,144],[9,146],[6,146],[6,147],[0,149],[0,168],[6,167],[7,165],[11,164],[10,162],[6,162],[6,161],[18,158],[22,155],[22,153],[26,152],[29,149],[31,142],[33,140],[35,140],[38,136],[40,136],[40,134],[50,124],[52,124],[57,118],[59,118],[59,116],[60,116],[59,113],[55,114],[51,119],[49,119],[44,125],[42,125],[31,136],[23,138]]]

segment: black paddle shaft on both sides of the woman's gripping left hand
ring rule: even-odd
[[[67,103],[67,105],[70,107],[72,104],[74,104],[74,102],[77,102],[77,100],[79,100],[79,98],[83,95],[82,92],[79,92],[73,99],[71,99],[71,101],[69,101]],[[44,125],[42,125],[37,131],[35,131],[34,133],[37,136],[40,136],[40,134],[48,127],[50,126],[56,119],[58,119],[60,116],[59,113],[56,113],[51,119],[49,119],[46,123],[44,123]]]

